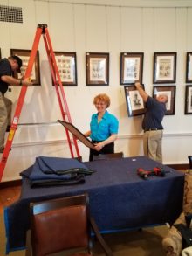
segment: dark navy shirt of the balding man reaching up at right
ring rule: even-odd
[[[166,105],[148,96],[146,102],[146,114],[142,122],[142,128],[163,128],[161,121],[166,114]]]

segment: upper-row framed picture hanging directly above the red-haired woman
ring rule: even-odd
[[[86,86],[108,86],[109,53],[86,52]]]

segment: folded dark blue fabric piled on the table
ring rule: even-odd
[[[84,163],[80,163],[74,158],[60,158],[39,156],[33,164],[31,174],[29,176],[31,181],[44,179],[71,179],[74,174],[89,172],[89,169]],[[90,171],[90,174],[93,171]]]

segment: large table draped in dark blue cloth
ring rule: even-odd
[[[31,188],[23,176],[19,200],[4,209],[7,253],[25,247],[30,227],[29,204],[87,192],[90,210],[101,232],[120,232],[149,225],[173,224],[182,212],[184,174],[145,156],[114,158],[84,163],[92,175],[85,183]],[[163,168],[166,176],[137,174],[138,168]],[[26,170],[29,172],[32,166]]]

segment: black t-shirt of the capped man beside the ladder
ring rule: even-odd
[[[1,80],[3,75],[12,75],[10,61],[6,58],[0,60],[0,92],[4,95],[8,90],[9,84]]]

